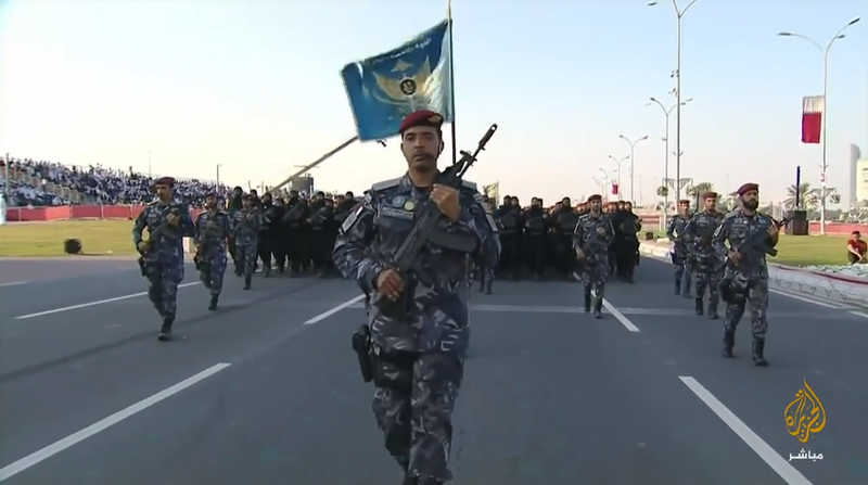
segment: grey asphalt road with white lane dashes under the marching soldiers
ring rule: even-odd
[[[474,293],[452,483],[868,483],[868,314],[773,294],[755,368],[750,322],[722,358],[720,321],[671,280],[646,259],[602,320],[576,283]],[[166,344],[135,270],[0,288],[0,482],[400,483],[349,350],[353,283],[228,277],[216,314],[187,284]],[[784,423],[803,380],[829,412],[808,444]],[[802,448],[824,459],[788,461]]]

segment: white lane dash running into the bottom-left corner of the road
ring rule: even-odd
[[[151,406],[159,403],[161,400],[164,400],[168,397],[171,397],[175,394],[180,393],[181,391],[192,386],[193,384],[200,381],[208,379],[209,376],[216,374],[217,372],[226,369],[229,366],[231,366],[231,363],[217,363],[216,366],[205,369],[202,372],[193,375],[192,378],[186,379],[173,385],[171,387],[163,390],[151,397],[148,397],[143,400],[136,403],[135,405],[124,410],[115,412],[114,414],[105,419],[102,419],[100,421],[97,421],[95,423],[85,427],[84,430],[77,431],[71,434],[69,436],[66,436],[60,442],[51,444],[40,449],[39,451],[30,454],[22,458],[21,460],[15,461],[12,464],[3,467],[2,469],[0,469],[0,482],[11,478],[16,474],[39,464],[40,462],[53,457],[54,455],[58,455],[59,452],[84,442],[85,439],[95,435],[101,431],[105,431],[106,429],[119,423],[120,421],[124,421],[125,419],[130,418],[150,408]]]

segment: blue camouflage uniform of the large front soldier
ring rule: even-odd
[[[341,227],[333,258],[345,277],[357,280],[373,296],[369,317],[375,386],[372,408],[386,449],[419,483],[443,483],[451,478],[447,468],[451,413],[470,339],[468,253],[433,243],[423,248],[420,268],[431,285],[412,276],[406,281],[405,291],[412,291],[408,320],[384,316],[376,307],[381,295],[373,288],[429,193],[413,187],[408,175],[374,184]],[[480,204],[482,195],[474,184],[464,182],[459,197],[459,220],[442,219],[435,232],[472,239],[475,250],[470,255],[477,266],[495,267],[500,243],[494,219]]]

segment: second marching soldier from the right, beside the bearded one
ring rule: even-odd
[[[724,215],[717,212],[717,194],[706,192],[702,195],[705,201],[705,209],[693,214],[690,221],[685,227],[685,234],[693,241],[689,251],[695,260],[693,271],[693,283],[697,286],[697,315],[704,312],[703,301],[705,290],[709,290],[709,318],[716,320],[717,304],[719,301],[720,271],[718,267],[719,258],[712,246],[712,235],[717,226],[724,220]]]

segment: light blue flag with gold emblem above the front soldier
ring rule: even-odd
[[[449,22],[386,53],[344,66],[341,77],[359,140],[398,135],[401,118],[417,110],[435,111],[452,122]]]

